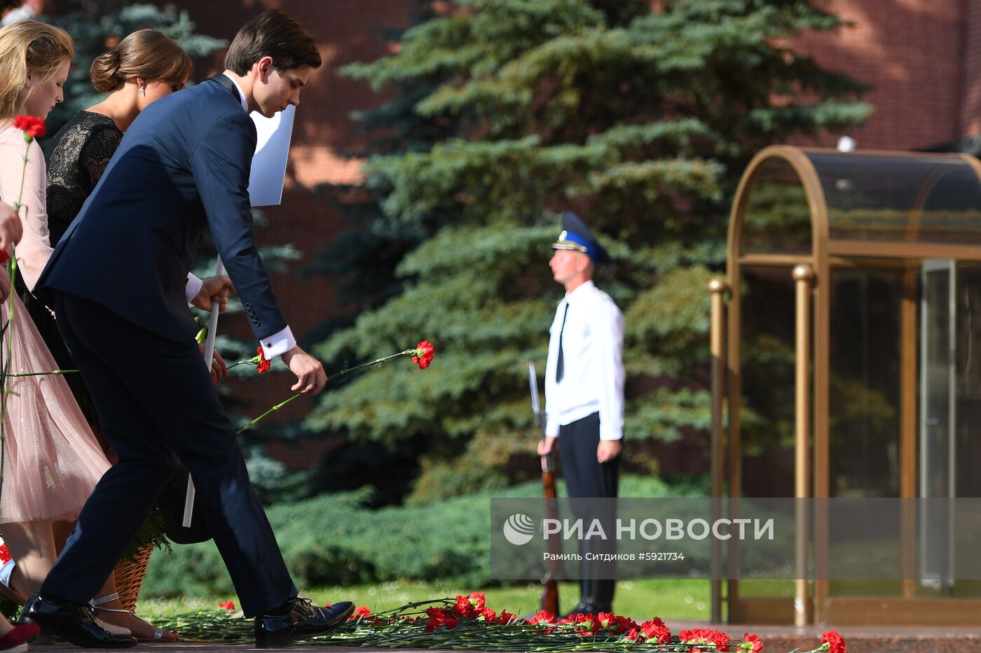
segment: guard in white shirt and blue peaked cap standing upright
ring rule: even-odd
[[[593,282],[608,260],[583,221],[562,215],[562,233],[548,265],[565,287],[548,340],[545,437],[539,455],[561,441],[562,474],[570,498],[616,497],[623,437],[623,313]],[[608,515],[606,517],[609,517]],[[585,552],[593,550],[583,542]],[[584,574],[573,612],[610,612],[614,581]]]

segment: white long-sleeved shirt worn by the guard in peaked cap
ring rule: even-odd
[[[549,332],[545,434],[558,437],[558,427],[598,412],[599,439],[623,437],[623,313],[592,280],[586,281],[558,303]],[[556,381],[560,332],[563,375]]]

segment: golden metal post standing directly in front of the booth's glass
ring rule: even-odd
[[[794,583],[794,625],[808,624],[807,596],[807,514],[805,502],[810,496],[810,291],[814,269],[809,265],[794,268],[797,295],[797,355],[795,379],[795,448],[794,496],[797,499],[796,562]]]

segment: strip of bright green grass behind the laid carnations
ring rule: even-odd
[[[323,605],[336,601],[352,601],[358,606],[368,606],[373,612],[390,610],[413,601],[439,599],[457,594],[469,594],[469,587],[422,581],[396,581],[381,584],[353,585],[348,587],[318,587],[301,591],[303,596]],[[496,611],[507,609],[519,616],[533,614],[539,609],[542,590],[537,583],[491,587],[485,590],[488,605]],[[571,610],[579,600],[579,584],[559,583],[559,598],[563,611]],[[219,601],[232,600],[237,607],[237,597],[212,598],[183,597],[180,599],[140,599],[137,610],[141,617],[150,621],[172,617],[183,612],[217,609]],[[618,580],[614,612],[637,621],[660,617],[668,625],[673,621],[707,621],[709,586],[707,580]]]

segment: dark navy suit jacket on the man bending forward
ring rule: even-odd
[[[286,326],[255,248],[248,180],[255,125],[215,75],[144,109],[69,226],[36,291],[99,303],[160,335],[195,326],[184,282],[211,228],[256,339]]]

